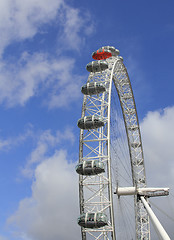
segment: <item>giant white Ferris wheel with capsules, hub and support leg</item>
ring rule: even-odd
[[[82,240],[150,240],[149,217],[159,239],[169,240],[148,198],[169,194],[147,188],[134,95],[119,50],[92,54],[80,128],[79,203]]]

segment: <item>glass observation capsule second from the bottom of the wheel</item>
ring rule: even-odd
[[[99,160],[83,161],[76,166],[76,172],[80,175],[97,175],[105,172],[103,162]]]

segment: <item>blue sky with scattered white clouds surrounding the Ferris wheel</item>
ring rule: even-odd
[[[148,185],[174,195],[173,9],[171,0],[0,1],[0,240],[80,239],[76,124],[85,66],[101,46],[118,48],[128,69]]]

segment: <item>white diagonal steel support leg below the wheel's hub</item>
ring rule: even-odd
[[[156,233],[157,233],[159,239],[160,240],[171,240],[170,237],[168,236],[168,234],[166,233],[166,231],[164,230],[163,226],[161,225],[161,223],[159,222],[159,220],[153,213],[152,209],[150,208],[149,204],[147,203],[147,201],[145,200],[144,197],[141,197],[141,201],[144,204],[144,206],[149,214],[149,217],[151,219],[151,222],[156,230]]]

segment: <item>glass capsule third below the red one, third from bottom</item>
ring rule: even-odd
[[[85,116],[78,120],[77,126],[81,129],[96,129],[104,126],[104,121],[101,117],[95,115]]]

